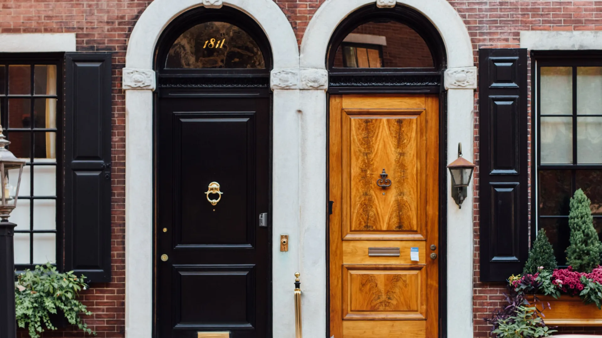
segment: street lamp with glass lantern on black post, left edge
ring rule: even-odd
[[[14,227],[17,225],[8,221],[10,212],[17,205],[19,184],[25,160],[16,158],[5,147],[10,142],[6,140],[0,126],[0,337],[14,338],[17,336],[17,324],[14,305]],[[8,184],[8,174],[18,175],[17,186]]]

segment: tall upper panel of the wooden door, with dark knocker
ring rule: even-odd
[[[346,238],[423,238],[425,115],[424,110],[344,109]]]

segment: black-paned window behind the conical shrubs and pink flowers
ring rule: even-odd
[[[536,59],[536,225],[566,265],[569,200],[590,198],[602,232],[602,61],[594,56]]]

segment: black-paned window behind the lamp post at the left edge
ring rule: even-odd
[[[0,121],[8,149],[25,159],[17,207],[14,263],[30,268],[60,259],[60,121],[63,55],[0,55]],[[57,161],[58,159],[58,161]],[[9,184],[17,185],[10,175]]]

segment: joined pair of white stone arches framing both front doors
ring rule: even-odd
[[[349,13],[374,0],[328,0],[312,17],[301,57],[294,32],[273,0],[155,0],[141,14],[129,39],[123,89],[126,91],[126,337],[152,336],[153,94],[156,43],[179,14],[205,5],[235,7],[264,29],[273,53],[273,243],[290,236],[288,253],[273,245],[273,336],[294,337],[292,290],[301,272],[303,331],[326,333],[326,51],[330,35]],[[470,37],[458,13],[445,0],[398,0],[423,13],[445,42],[448,75],[473,72]],[[394,0],[377,0],[394,4]],[[447,81],[446,81],[447,82]],[[448,162],[456,144],[473,141],[473,88],[476,76],[450,81]],[[465,147],[472,158],[472,148]],[[471,198],[471,190],[469,189]],[[157,206],[161,207],[161,206]],[[448,337],[471,337],[472,208],[448,201],[447,300],[454,304]]]

